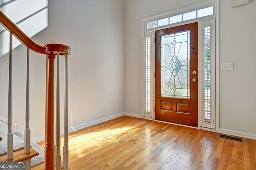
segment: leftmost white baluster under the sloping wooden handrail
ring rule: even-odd
[[[9,49],[9,87],[8,87],[8,133],[7,133],[7,159],[13,158],[13,134],[12,134],[12,33],[10,32]]]

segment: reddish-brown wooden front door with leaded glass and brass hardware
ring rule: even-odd
[[[198,23],[156,31],[156,119],[198,126]]]

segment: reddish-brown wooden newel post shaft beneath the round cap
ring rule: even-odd
[[[50,52],[47,55],[49,61],[48,70],[48,100],[46,115],[46,170],[54,170],[55,145],[54,145],[54,60],[56,55]]]

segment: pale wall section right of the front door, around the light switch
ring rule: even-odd
[[[256,135],[256,0],[232,8],[220,1],[220,128]]]

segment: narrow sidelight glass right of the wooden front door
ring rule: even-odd
[[[204,27],[204,121],[211,119],[211,26]]]

